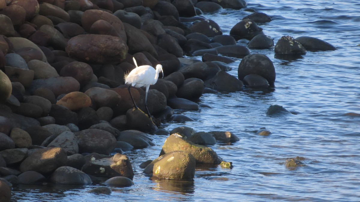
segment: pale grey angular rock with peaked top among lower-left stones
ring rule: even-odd
[[[59,134],[47,147],[63,148],[68,156],[79,152],[79,147],[73,132],[65,131]]]

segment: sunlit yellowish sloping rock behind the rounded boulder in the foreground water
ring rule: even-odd
[[[172,151],[183,151],[192,154],[197,163],[220,164],[222,159],[209,147],[194,144],[183,139],[180,135],[171,134],[162,146],[160,155]]]

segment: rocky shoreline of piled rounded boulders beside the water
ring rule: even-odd
[[[152,146],[150,132],[170,136],[160,157],[142,165],[146,175],[193,180],[197,164],[223,162],[203,145],[238,141],[235,134],[188,127],[167,132],[161,123],[188,121],[174,116],[174,109],[199,110],[196,100],[205,92],[273,87],[273,63],[249,49],[280,55],[335,50],[306,36],[284,36],[274,47],[257,24],[271,18],[250,8],[252,14],[230,35],[201,15],[246,5],[243,0],[0,0],[1,201],[16,201],[11,187],[22,183],[91,184],[93,176],[105,176],[109,186],[130,186],[134,173],[122,150]],[[238,45],[239,39],[249,40],[248,46]],[[202,61],[184,54],[201,55]],[[124,84],[124,75],[135,68],[133,57],[139,65],[163,68],[164,78],[148,93],[152,120],[134,110]],[[232,58],[242,59],[238,78],[226,73]],[[131,87],[131,93],[145,111],[144,89]]]

